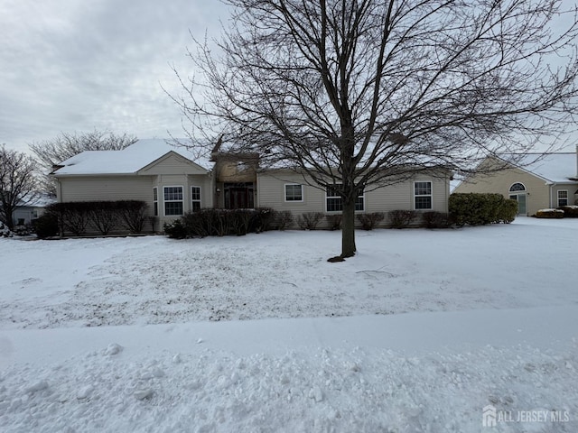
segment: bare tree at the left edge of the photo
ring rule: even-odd
[[[23,152],[0,148],[0,221],[14,229],[14,211],[36,198],[38,164]]]

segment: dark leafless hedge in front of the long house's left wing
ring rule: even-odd
[[[34,228],[40,238],[65,233],[108,235],[119,230],[142,233],[147,221],[147,207],[140,200],[52,203],[34,221]]]

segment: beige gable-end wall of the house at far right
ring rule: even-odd
[[[499,171],[491,175],[474,175],[468,180],[461,182],[453,192],[493,192],[508,198],[511,194],[509,191],[510,187],[517,182],[526,187],[526,210],[528,216],[535,215],[538,209],[553,206],[550,201],[550,186],[546,185],[546,181],[517,168]],[[552,199],[555,200],[555,196]]]

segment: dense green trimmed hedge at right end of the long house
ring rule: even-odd
[[[501,194],[452,194],[448,201],[457,226],[511,223],[517,215],[517,201]]]

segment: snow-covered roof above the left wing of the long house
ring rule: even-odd
[[[168,152],[176,152],[209,170],[210,161],[195,158],[184,147],[172,146],[163,139],[139,140],[122,151],[86,151],[62,161],[54,174],[133,174]]]

